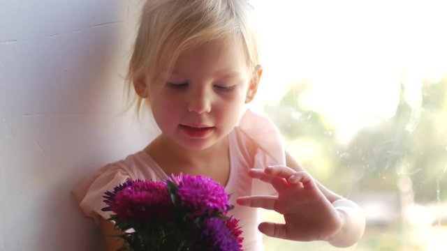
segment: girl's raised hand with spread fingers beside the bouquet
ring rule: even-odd
[[[293,241],[330,241],[342,228],[342,217],[307,172],[272,166],[251,169],[249,176],[271,183],[278,195],[240,197],[237,204],[274,210],[285,220],[285,224],[262,222],[258,229],[263,234]]]

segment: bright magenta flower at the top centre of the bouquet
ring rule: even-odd
[[[230,208],[224,188],[212,178],[179,174],[170,180],[177,184],[180,206],[189,208],[191,215],[211,215],[215,211],[226,213]]]

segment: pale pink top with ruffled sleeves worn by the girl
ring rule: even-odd
[[[235,199],[247,195],[274,195],[275,191],[268,183],[249,178],[249,168],[263,169],[267,165],[285,165],[284,148],[279,130],[270,119],[251,110],[247,110],[240,123],[230,132],[230,177],[225,186],[231,194],[230,203],[235,208],[230,211],[240,220],[244,233],[244,250],[263,250],[262,234],[258,231],[258,209],[237,206]],[[82,181],[73,194],[85,215],[98,221],[98,217],[109,218],[110,212],[103,212],[103,194],[113,190],[127,178],[152,179],[163,181],[168,175],[144,151],[139,151],[99,169],[91,177]]]

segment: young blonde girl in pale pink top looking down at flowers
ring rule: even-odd
[[[127,178],[161,181],[180,172],[210,176],[232,194],[244,250],[262,250],[261,233],[341,247],[362,236],[360,208],[315,181],[284,151],[270,120],[244,107],[262,73],[251,13],[244,0],[145,3],[129,82],[161,135],[74,190],[84,213],[101,222],[108,250],[122,243],[110,237],[103,193]],[[285,224],[259,222],[258,207],[283,214]]]

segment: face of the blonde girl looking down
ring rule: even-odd
[[[214,40],[186,50],[149,92],[161,137],[189,150],[220,142],[256,93],[253,74],[237,43]]]

